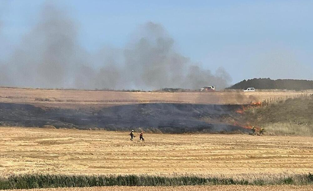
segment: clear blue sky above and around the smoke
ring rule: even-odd
[[[0,60],[38,22],[47,1],[0,0]],[[49,1],[48,1],[49,2]],[[160,23],[182,55],[233,83],[247,78],[313,80],[313,1],[53,1],[93,52],[123,48],[136,28]]]

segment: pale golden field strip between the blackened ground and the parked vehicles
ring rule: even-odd
[[[306,92],[310,93],[310,92]],[[174,102],[244,104],[270,98],[294,97],[301,92],[109,92],[82,90],[36,90],[0,88],[0,102],[31,103],[39,106],[76,108],[104,107],[115,104]]]

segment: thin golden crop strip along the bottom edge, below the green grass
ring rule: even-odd
[[[15,191],[265,191],[265,190],[288,190],[288,191],[310,191],[313,190],[312,185],[295,186],[295,185],[274,185],[274,186],[242,186],[242,185],[221,185],[221,186],[177,186],[177,187],[129,187],[129,186],[108,186],[108,187],[90,187],[90,188],[48,188],[48,189],[25,189]]]

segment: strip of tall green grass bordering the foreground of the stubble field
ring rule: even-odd
[[[190,185],[281,185],[313,184],[313,174],[295,174],[254,180],[227,177],[148,176],[148,175],[61,175],[23,174],[0,178],[0,189],[30,189],[93,186],[190,186]]]

